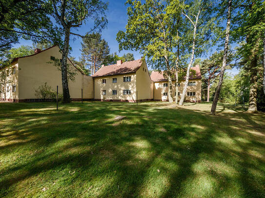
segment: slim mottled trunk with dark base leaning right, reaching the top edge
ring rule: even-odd
[[[229,0],[228,1],[228,11],[227,11],[226,31],[225,31],[223,63],[222,63],[221,71],[220,71],[219,82],[218,82],[218,85],[217,85],[217,88],[216,88],[216,91],[215,91],[215,94],[214,94],[213,104],[212,104],[212,108],[211,108],[211,114],[212,115],[215,115],[215,113],[216,113],[216,106],[217,106],[217,102],[218,102],[218,99],[219,99],[219,95],[220,95],[220,92],[221,92],[223,79],[224,79],[224,70],[225,70],[225,67],[226,67],[226,59],[227,59],[228,44],[229,44],[231,6],[232,6],[232,0]]]

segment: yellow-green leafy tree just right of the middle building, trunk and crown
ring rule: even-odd
[[[175,66],[176,24],[182,4],[179,1],[127,0],[126,31],[119,31],[120,50],[139,50],[153,69],[164,70],[168,79],[168,100],[173,102],[172,78]],[[169,6],[170,5],[170,6]]]

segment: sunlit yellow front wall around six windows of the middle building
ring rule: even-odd
[[[123,82],[124,76],[131,76],[131,82]],[[112,78],[117,78],[117,83],[112,83]],[[106,79],[106,83],[102,83]],[[111,75],[94,78],[95,100],[136,100],[136,73]],[[102,95],[106,90],[106,95]],[[112,95],[112,90],[117,90],[117,95]],[[123,95],[123,90],[131,90],[130,95]]]

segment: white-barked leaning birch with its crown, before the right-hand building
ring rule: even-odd
[[[214,2],[210,0],[194,0],[188,1],[187,5],[183,6],[182,14],[186,19],[186,23],[190,23],[190,28],[187,30],[187,37],[191,41],[191,54],[189,63],[186,69],[185,82],[183,92],[179,104],[183,105],[190,68],[193,63],[194,54],[201,54],[205,47],[210,43],[211,33],[209,30],[214,28],[214,18],[212,17],[212,8]],[[187,42],[190,42],[189,40]],[[214,41],[212,41],[214,43]],[[199,47],[200,46],[200,47]]]

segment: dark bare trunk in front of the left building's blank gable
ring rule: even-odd
[[[70,38],[70,28],[65,29],[64,44],[62,49],[61,56],[61,82],[62,82],[62,102],[70,103],[70,93],[68,88],[68,79],[67,79],[67,56],[69,50],[69,38]]]

